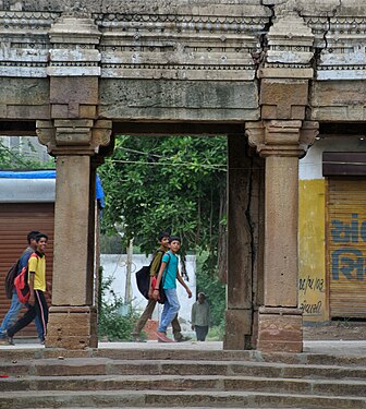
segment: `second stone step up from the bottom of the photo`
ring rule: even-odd
[[[98,375],[26,376],[0,382],[0,392],[23,390],[213,390],[365,397],[366,380],[290,380],[264,376]]]

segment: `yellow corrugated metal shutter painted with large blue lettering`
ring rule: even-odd
[[[366,180],[328,180],[330,316],[366,317]]]

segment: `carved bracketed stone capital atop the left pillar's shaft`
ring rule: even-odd
[[[52,155],[95,156],[110,143],[112,121],[90,119],[60,119],[37,121],[37,135]]]

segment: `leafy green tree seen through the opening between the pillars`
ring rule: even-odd
[[[124,245],[133,238],[149,253],[157,233],[171,227],[182,255],[207,250],[206,269],[215,274],[225,233],[225,163],[220,136],[119,136],[98,171],[107,196],[103,231],[120,228]]]

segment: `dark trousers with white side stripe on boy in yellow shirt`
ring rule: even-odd
[[[35,317],[39,317],[39,323],[42,327],[44,332],[44,338],[46,336],[46,327],[48,323],[48,305],[47,301],[44,294],[44,291],[41,290],[35,290],[35,304],[32,305],[25,314],[16,321],[14,325],[12,325],[8,329],[8,335],[10,337],[13,337],[17,332],[26,327],[28,324],[32,323]]]

